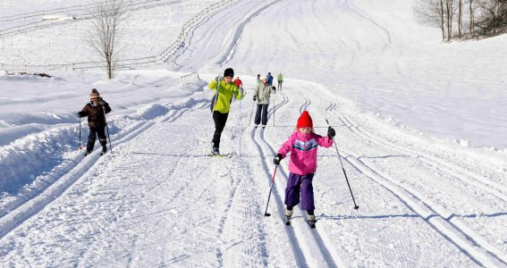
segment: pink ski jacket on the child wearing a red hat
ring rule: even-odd
[[[333,139],[315,133],[301,134],[300,131],[295,131],[280,147],[278,154],[285,158],[291,153],[289,172],[306,175],[317,171],[317,147],[319,146],[331,147]]]

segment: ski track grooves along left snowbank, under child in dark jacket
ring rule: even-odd
[[[125,130],[123,133],[119,133],[116,137],[117,140],[114,142],[114,146],[122,145],[130,141],[132,138],[139,136],[140,133],[151,128],[157,120],[160,121],[175,121],[179,117],[182,116],[183,113],[189,110],[189,108],[183,108],[176,113],[170,113],[169,115],[163,116],[162,119],[154,119],[151,121],[139,121],[135,123],[131,128]],[[76,181],[80,180],[85,174],[87,174],[91,169],[97,165],[97,163],[102,163],[106,156],[110,156],[111,154],[106,154],[102,157],[97,157],[100,147],[96,147],[92,154],[88,157],[82,159],[80,162],[78,158],[81,156],[76,156],[72,162],[68,163],[62,169],[59,169],[53,172],[55,175],[61,175],[59,178],[55,179],[55,183],[51,184],[49,187],[45,188],[38,196],[32,197],[29,200],[23,200],[22,204],[16,204],[17,206],[10,209],[8,214],[4,214],[0,218],[0,239],[3,239],[6,235],[8,235],[12,230],[15,230],[18,226],[20,226],[23,222],[26,222],[31,217],[38,214],[42,211],[47,205],[51,204],[58,197],[62,196],[63,193],[70,188]],[[114,151],[113,151],[114,154]],[[58,176],[55,176],[58,177]]]

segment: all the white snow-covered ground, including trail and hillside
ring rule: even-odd
[[[0,11],[91,2],[6,0]],[[165,2],[131,13],[126,57],[160,54],[185,21],[220,1]],[[82,40],[89,21],[0,37],[0,263],[507,267],[507,38],[443,44],[437,29],[413,21],[410,6],[235,1],[192,31],[171,58],[177,66],[114,80],[103,71],[6,73],[97,58]],[[0,33],[26,20],[37,18],[0,21]],[[207,81],[230,66],[247,96],[232,103],[222,137],[232,157],[209,157]],[[182,86],[190,71],[201,81]],[[249,92],[267,71],[283,72],[285,82],[266,130],[256,130]],[[88,127],[80,129],[76,113],[91,88],[113,108],[114,153],[83,158],[77,147]],[[317,133],[325,134],[325,120],[337,130],[359,205],[352,208],[334,147],[319,149],[316,230],[299,208],[284,225],[285,160],[272,216],[263,216],[273,155],[303,110]]]

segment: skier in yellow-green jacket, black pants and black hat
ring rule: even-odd
[[[232,96],[236,99],[243,99],[242,88],[239,89],[232,82],[234,77],[234,71],[232,68],[227,68],[224,71],[224,77],[217,76],[215,80],[211,80],[207,85],[210,89],[215,89],[215,96],[211,108],[213,111],[213,121],[215,121],[215,133],[213,134],[213,155],[220,155],[220,137],[227,122],[229,116],[229,110],[231,109]]]

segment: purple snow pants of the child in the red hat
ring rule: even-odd
[[[289,173],[287,188],[285,188],[285,205],[296,206],[300,204],[301,192],[301,210],[315,210],[313,200],[313,180],[314,173],[298,175]]]

